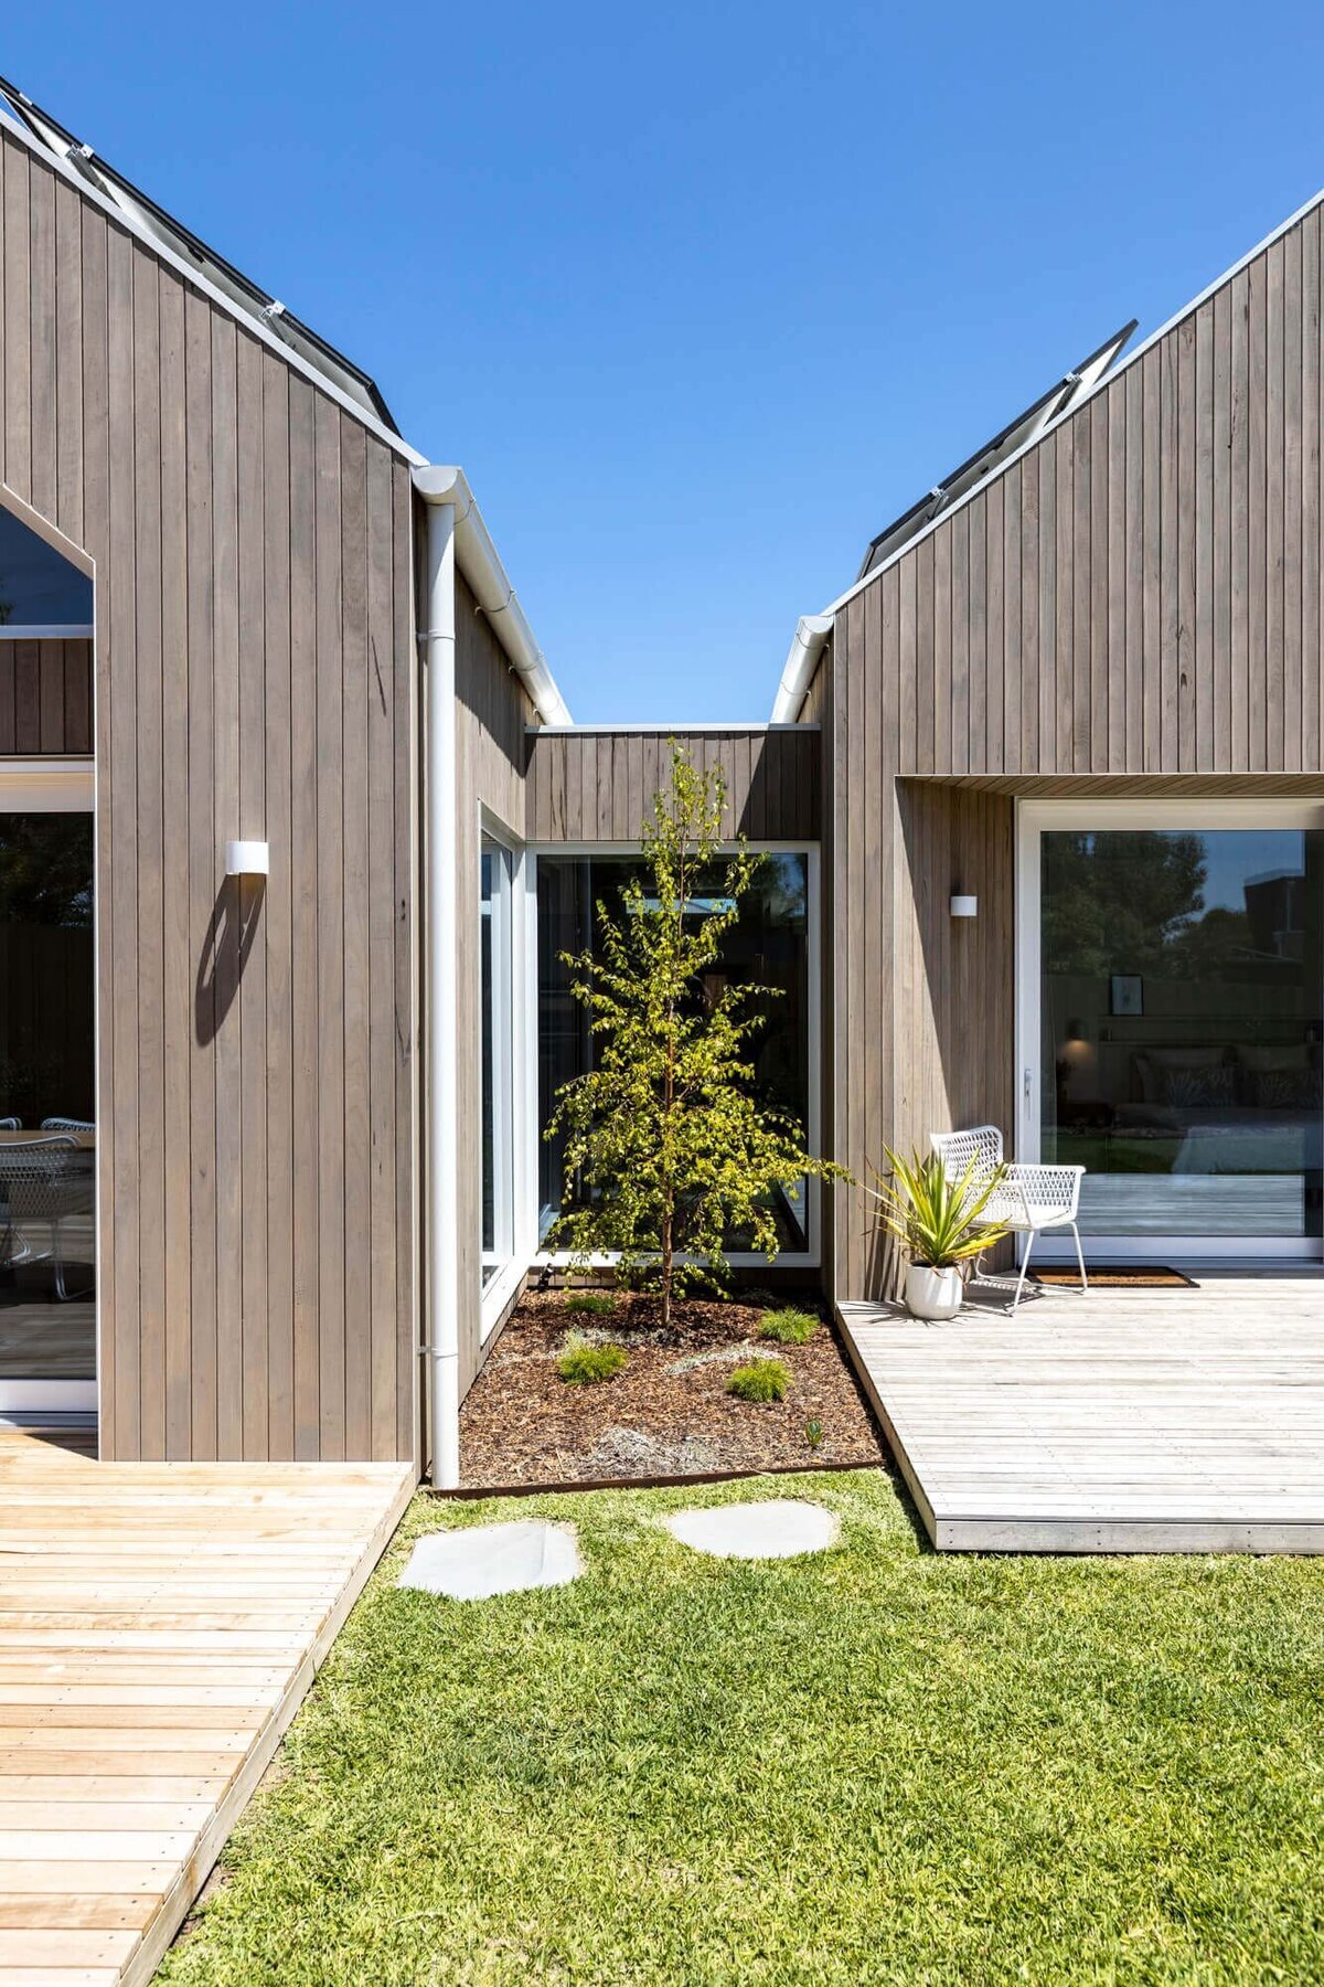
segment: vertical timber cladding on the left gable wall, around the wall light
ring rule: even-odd
[[[97,578],[101,1447],[411,1456],[409,471],[8,129],[0,221],[0,477]]]

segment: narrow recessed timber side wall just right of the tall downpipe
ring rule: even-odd
[[[461,1397],[482,1361],[482,817],[524,841],[526,729],[534,707],[464,576],[455,576],[455,862]]]

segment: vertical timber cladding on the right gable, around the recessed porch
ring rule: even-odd
[[[883,1143],[1010,1121],[1016,791],[1324,767],[1320,284],[1316,205],[838,612],[836,1156],[856,1172]],[[957,884],[981,896],[967,932],[945,922]],[[846,1200],[838,1290],[873,1296]]]

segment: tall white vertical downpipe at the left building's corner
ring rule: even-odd
[[[455,503],[415,477],[427,505],[427,594],[423,672],[427,773],[425,862],[425,1107],[427,1137],[427,1305],[423,1355],[429,1373],[433,1484],[461,1480],[461,1292],[457,1282],[457,910],[455,910]]]

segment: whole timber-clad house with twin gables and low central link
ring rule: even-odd
[[[1322,213],[881,533],[770,725],[576,727],[463,471],[0,85],[0,1413],[455,1480],[669,737],[816,1150],[994,1123],[1096,1258],[1318,1260]]]

